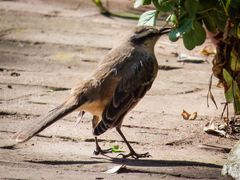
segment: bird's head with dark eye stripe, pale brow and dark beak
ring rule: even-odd
[[[134,30],[134,34],[130,37],[130,42],[134,45],[146,46],[153,48],[158,38],[171,31],[170,28],[157,29],[152,26],[138,26]]]

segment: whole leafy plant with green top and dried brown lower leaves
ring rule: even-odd
[[[208,32],[214,34],[218,43],[213,74],[224,86],[227,103],[233,102],[240,114],[240,0],[135,0],[134,7],[149,4],[155,9],[143,13],[138,25],[155,26],[167,13],[169,39],[183,39],[188,50],[203,44]]]

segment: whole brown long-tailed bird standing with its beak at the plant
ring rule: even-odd
[[[148,152],[140,154],[132,148],[121,126],[126,114],[151,88],[158,72],[154,46],[160,36],[170,31],[167,27],[135,27],[119,46],[109,51],[92,74],[71,90],[62,104],[33,120],[12,138],[23,143],[73,111],[78,111],[80,118],[89,112],[93,115],[96,155],[109,152],[101,149],[97,137],[115,128],[129,149],[128,154],[121,154],[123,158],[150,157]]]

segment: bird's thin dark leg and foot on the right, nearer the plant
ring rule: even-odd
[[[120,127],[116,127],[117,132],[120,134],[120,136],[123,138],[124,142],[127,144],[127,147],[129,149],[129,153],[128,154],[119,154],[121,155],[124,159],[127,157],[132,157],[134,159],[139,159],[139,158],[146,158],[146,157],[150,157],[151,155],[146,152],[143,154],[138,154],[134,151],[134,149],[132,148],[132,146],[129,144],[128,140],[125,138],[125,136],[123,135],[121,128]]]

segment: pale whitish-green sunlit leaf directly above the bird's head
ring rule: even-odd
[[[138,26],[155,26],[157,19],[158,11],[150,10],[143,13],[138,21]]]

